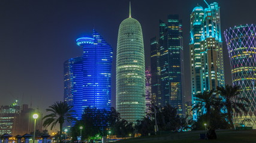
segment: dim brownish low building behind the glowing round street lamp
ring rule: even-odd
[[[16,127],[14,128],[13,135],[24,135],[25,133],[34,132],[35,119],[33,118],[33,114],[35,113],[38,114],[35,130],[42,132],[43,131],[43,114],[40,113],[40,111],[38,110],[35,110],[33,108],[28,108],[28,104],[23,104],[19,114],[19,120],[17,122]]]

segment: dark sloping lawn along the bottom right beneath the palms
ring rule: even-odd
[[[218,143],[235,143],[235,142],[256,142],[256,130],[216,130],[217,139],[205,140],[199,139],[199,134],[204,131],[192,132],[174,132],[165,135],[144,136],[140,138],[131,138],[118,141],[117,143],[191,143],[191,142],[218,142]]]

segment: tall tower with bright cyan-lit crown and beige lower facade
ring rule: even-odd
[[[221,18],[218,3],[203,9],[195,7],[190,15],[191,95],[224,86],[224,67],[221,40]],[[197,114],[193,115],[194,120]]]

